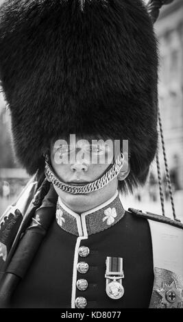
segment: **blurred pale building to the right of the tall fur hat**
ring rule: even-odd
[[[183,189],[183,1],[164,5],[155,24],[160,48],[159,102],[175,189]],[[162,163],[162,158],[160,159]],[[163,168],[164,169],[164,168]]]

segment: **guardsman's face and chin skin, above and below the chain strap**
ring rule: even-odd
[[[105,140],[88,141],[77,138],[75,145],[58,140],[51,145],[51,165],[56,175],[66,184],[80,186],[95,181],[113,163],[120,153],[117,142]],[[107,143],[107,144],[106,144]],[[62,201],[75,212],[84,212],[105,202],[117,190],[117,178],[114,178],[101,190],[85,195],[71,195],[62,190],[55,189]],[[106,200],[105,200],[106,199]]]

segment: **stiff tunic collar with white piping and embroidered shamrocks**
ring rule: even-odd
[[[56,206],[56,221],[58,225],[75,236],[89,236],[102,232],[116,223],[124,216],[121,199],[118,191],[115,195],[100,206],[77,214],[69,209],[60,197]]]

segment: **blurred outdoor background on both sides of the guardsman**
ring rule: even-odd
[[[0,0],[0,4],[2,2]],[[183,221],[183,0],[174,0],[173,3],[164,5],[155,24],[155,31],[160,49],[158,90],[165,148],[175,211]],[[26,171],[15,161],[11,141],[10,114],[3,92],[0,92],[0,216],[16,200],[29,180]],[[159,158],[165,214],[171,217],[161,147]],[[136,190],[134,195],[124,197],[124,207],[161,214],[156,162],[151,165],[146,186]]]

